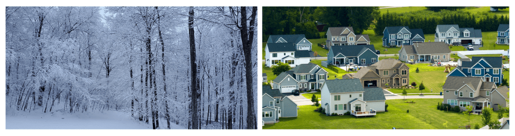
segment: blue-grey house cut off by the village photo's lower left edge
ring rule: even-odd
[[[279,118],[296,117],[297,104],[278,89],[263,86],[263,124],[279,122]]]

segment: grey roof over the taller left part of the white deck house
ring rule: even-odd
[[[328,87],[329,93],[365,91],[359,79],[325,80],[325,84]]]

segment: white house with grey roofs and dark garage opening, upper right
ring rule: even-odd
[[[479,45],[482,38],[481,29],[459,28],[458,25],[436,26],[435,42],[453,45]]]

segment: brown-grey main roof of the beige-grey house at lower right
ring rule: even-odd
[[[475,91],[479,87],[480,82],[483,82],[481,77],[447,76],[447,80],[445,80],[442,89],[458,90],[465,84],[468,84]]]

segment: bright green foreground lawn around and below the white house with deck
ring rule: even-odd
[[[414,101],[415,104],[404,103]],[[280,118],[280,122],[265,125],[263,129],[459,129],[468,124],[468,116],[462,113],[436,109],[443,99],[386,100],[388,112],[375,116],[356,118],[351,115],[326,116],[315,112],[315,106],[299,106],[298,117]],[[406,113],[409,110],[409,113]],[[495,119],[498,112],[492,113]],[[470,124],[480,124],[480,115],[470,115]],[[445,128],[443,123],[448,122]]]

